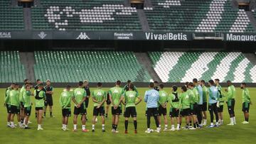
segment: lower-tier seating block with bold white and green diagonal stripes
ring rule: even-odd
[[[242,52],[149,52],[149,57],[162,82],[256,82],[256,65]]]

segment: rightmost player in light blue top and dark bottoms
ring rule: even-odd
[[[210,112],[210,126],[209,128],[213,128],[218,126],[218,109],[217,109],[217,103],[219,98],[218,89],[213,85],[213,79],[210,79],[208,81],[209,84],[209,107],[208,110]],[[215,114],[216,123],[213,125],[213,113]]]

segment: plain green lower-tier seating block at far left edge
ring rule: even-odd
[[[26,79],[25,68],[21,64],[17,51],[0,52],[0,82],[23,82]]]

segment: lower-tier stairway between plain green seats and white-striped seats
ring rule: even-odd
[[[140,65],[142,65],[147,72],[149,72],[149,75],[151,76],[151,78],[155,81],[161,82],[161,79],[159,78],[159,76],[156,74],[156,71],[154,70],[154,68],[152,67],[152,62],[149,59],[149,56],[147,55],[146,52],[134,52],[134,55],[136,56],[138,62]]]

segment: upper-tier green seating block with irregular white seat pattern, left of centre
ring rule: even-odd
[[[141,31],[137,10],[122,0],[42,0],[32,9],[34,30]]]

